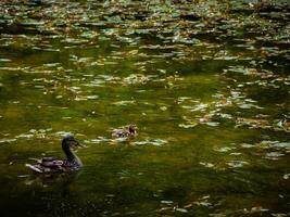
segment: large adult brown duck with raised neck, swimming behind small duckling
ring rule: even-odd
[[[52,174],[79,170],[83,167],[81,161],[71,150],[74,146],[85,146],[73,136],[67,135],[62,140],[62,150],[66,159],[60,159],[54,156],[37,159],[37,164],[26,164],[26,167],[38,174]]]

